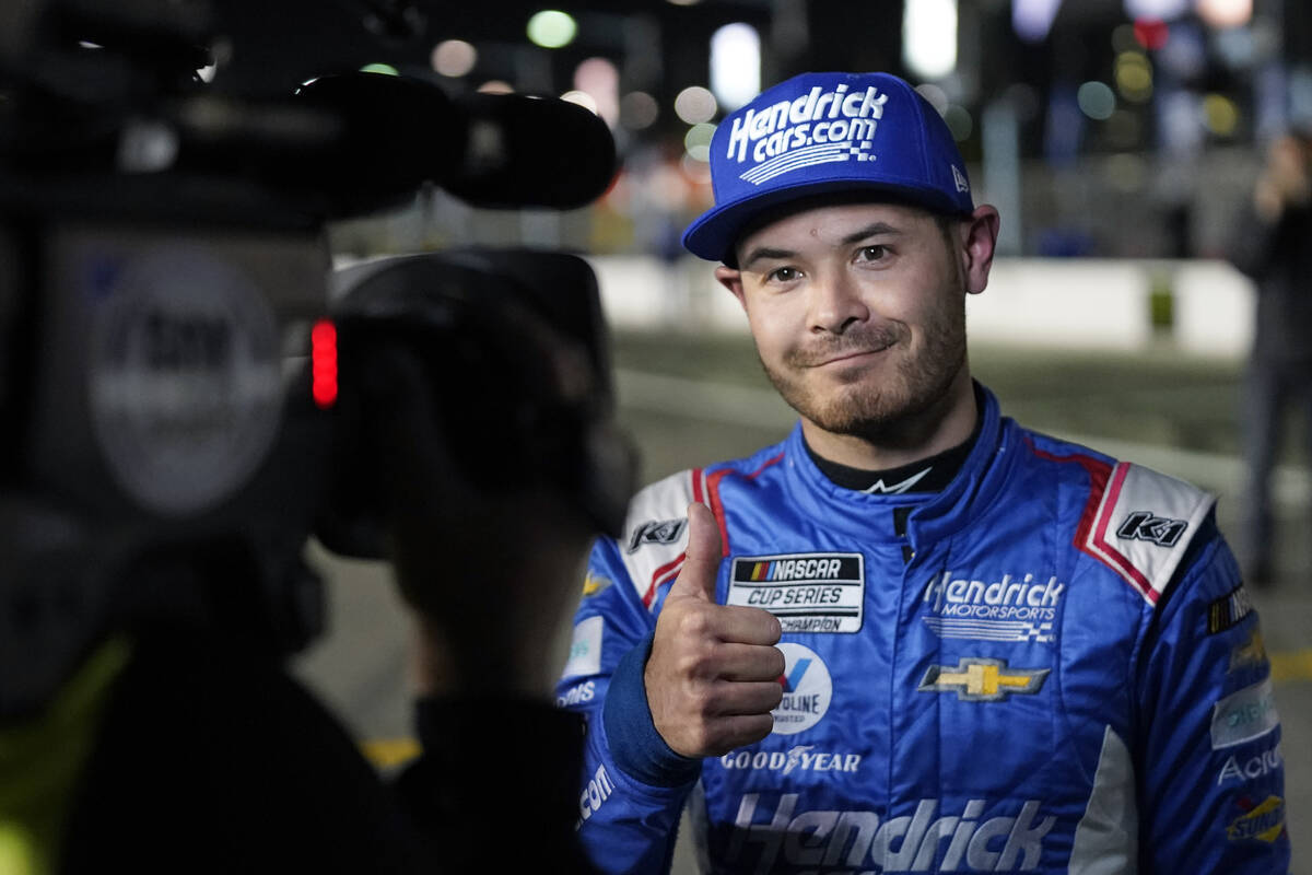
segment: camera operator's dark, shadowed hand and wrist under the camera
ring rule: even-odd
[[[419,358],[388,346],[370,363],[377,408],[366,428],[377,429],[382,455],[388,552],[417,613],[419,691],[547,697],[589,523],[544,485],[505,493],[472,485],[446,439],[468,424],[440,420]]]

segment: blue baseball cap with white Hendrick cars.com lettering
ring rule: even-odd
[[[802,73],[728,115],[711,138],[715,206],[684,232],[711,261],[733,260],[765,211],[817,194],[870,192],[934,213],[974,209],[966,163],[938,112],[890,73]]]

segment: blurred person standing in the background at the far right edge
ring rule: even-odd
[[[1240,416],[1248,467],[1244,539],[1245,580],[1270,584],[1271,468],[1298,401],[1312,446],[1312,135],[1277,138],[1253,188],[1252,209],[1232,235],[1231,260],[1257,283],[1253,349]],[[1309,454],[1312,459],[1312,454]]]

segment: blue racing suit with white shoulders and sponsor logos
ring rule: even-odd
[[[558,702],[588,719],[580,836],[715,872],[1286,872],[1281,728],[1214,499],[1000,417],[951,484],[830,483],[800,428],[632,501],[594,546]],[[783,627],[774,732],[687,760],[643,665],[706,502],[718,601]]]

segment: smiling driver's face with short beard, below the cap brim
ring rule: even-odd
[[[976,283],[958,224],[945,232],[929,213],[899,205],[821,206],[739,243],[740,269],[716,275],[741,300],[770,380],[803,417],[876,439],[963,384],[966,293]]]

